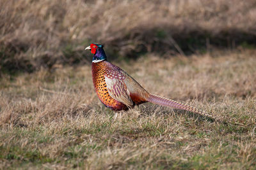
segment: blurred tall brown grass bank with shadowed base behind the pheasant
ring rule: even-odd
[[[111,59],[169,57],[256,45],[256,1],[0,1],[0,69],[86,64],[103,43]]]

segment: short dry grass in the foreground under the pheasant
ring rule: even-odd
[[[255,50],[118,63],[150,92],[212,111],[230,124],[143,104],[115,113],[90,66],[0,80],[0,169],[254,169]]]

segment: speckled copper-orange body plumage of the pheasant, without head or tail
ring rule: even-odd
[[[125,71],[106,60],[92,63],[92,77],[100,101],[112,110],[127,110],[134,104],[147,102],[148,92]],[[138,93],[144,95],[141,97]]]

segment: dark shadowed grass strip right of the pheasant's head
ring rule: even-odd
[[[220,30],[218,32],[205,29],[185,30],[177,26],[164,26],[145,28],[138,27],[120,38],[104,41],[111,46],[109,59],[116,59],[116,53],[136,59],[147,52],[156,52],[160,55],[166,53],[175,55],[191,55],[204,53],[207,50],[254,48],[256,34],[244,32],[239,29]],[[112,57],[111,57],[112,56]]]

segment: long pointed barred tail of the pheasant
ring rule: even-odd
[[[189,106],[188,104],[180,103],[177,101],[173,101],[172,99],[167,99],[165,97],[157,96],[156,94],[150,94],[150,96],[148,97],[148,101],[154,104],[162,105],[162,106],[168,106],[168,107],[172,107],[180,110],[192,111],[204,117],[213,118],[214,120],[220,119],[218,117],[214,117],[208,113],[205,113],[205,111],[198,110],[197,108]]]

